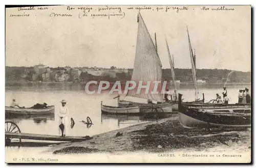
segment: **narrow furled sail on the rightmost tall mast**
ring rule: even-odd
[[[188,45],[189,45],[189,54],[190,54],[190,59],[191,59],[191,65],[192,65],[192,74],[193,74],[193,80],[194,80],[194,84],[195,84],[195,97],[196,100],[198,100],[198,86],[197,86],[197,72],[196,72],[196,57],[193,54],[193,50],[191,47],[191,43],[190,43],[190,38],[189,38],[189,34],[188,34],[188,29],[187,29],[187,37],[188,37]]]

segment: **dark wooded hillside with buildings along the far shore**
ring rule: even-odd
[[[115,67],[112,67],[113,69]],[[117,80],[126,81],[131,80],[133,69],[128,69],[128,73],[116,73],[116,77],[111,77],[110,75],[94,76],[82,71],[81,74],[73,76],[71,73],[72,68],[69,71],[61,72],[58,68],[52,68],[50,72],[50,77],[47,81],[56,82],[56,77],[60,73],[68,76],[65,81],[69,82],[87,82],[90,80],[107,80],[110,82],[115,82]],[[228,74],[231,70],[226,69],[197,69],[197,78],[205,80],[206,83],[218,83],[225,82],[227,80]],[[6,67],[5,69],[5,79],[6,82],[12,81],[40,81],[42,80],[41,74],[32,80],[32,76],[37,75],[33,70],[33,67]],[[176,80],[180,80],[182,83],[193,82],[193,75],[191,69],[175,69]],[[163,80],[171,81],[172,75],[170,69],[163,69]],[[249,83],[251,82],[251,72],[241,72],[235,71],[229,76],[228,82],[234,83]]]

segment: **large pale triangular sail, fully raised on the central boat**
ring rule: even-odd
[[[131,80],[135,81],[137,86],[139,81],[142,81],[143,86],[146,85],[147,82],[150,82],[150,89],[148,93],[146,93],[145,90],[141,90],[140,93],[137,93],[137,89],[129,90],[126,96],[163,102],[161,94],[162,64],[158,57],[156,46],[154,45],[150,33],[148,33],[140,13],[138,14],[137,45]],[[154,90],[154,81],[160,82],[157,90],[158,93],[151,93]]]

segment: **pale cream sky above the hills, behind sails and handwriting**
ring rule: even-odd
[[[88,16],[79,18],[82,11],[77,10],[78,6],[72,7],[76,10],[67,10],[67,6],[31,11],[7,9],[6,66],[41,63],[50,67],[133,68],[138,10],[119,6],[121,14],[125,14],[123,18],[93,18],[91,14],[117,14],[119,10],[99,13],[99,6],[92,6],[95,10],[87,11]],[[153,40],[154,33],[157,35],[163,68],[170,68],[165,39],[174,54],[175,68],[191,68],[188,26],[198,69],[251,71],[250,6],[226,6],[234,9],[229,11],[203,11],[202,6],[188,6],[188,10],[179,12],[172,9],[165,12],[166,6],[158,6],[164,9],[157,12],[157,6],[151,7],[151,10],[141,10],[140,13]],[[73,16],[50,17],[52,12]],[[10,17],[11,14],[30,16]]]

